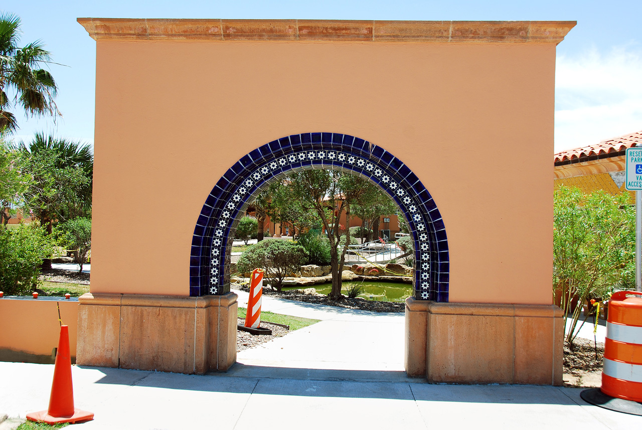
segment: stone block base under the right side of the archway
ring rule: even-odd
[[[555,305],[406,300],[408,376],[431,383],[562,384]]]

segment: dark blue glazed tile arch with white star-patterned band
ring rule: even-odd
[[[388,151],[342,133],[282,137],[248,153],[228,169],[205,199],[194,229],[190,296],[229,291],[232,237],[252,196],[276,178],[313,168],[351,171],[388,193],[408,221],[415,243],[415,298],[448,301],[446,227],[428,190]]]

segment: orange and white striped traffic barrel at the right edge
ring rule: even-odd
[[[609,301],[600,390],[642,402],[642,293],[638,291],[618,291]]]

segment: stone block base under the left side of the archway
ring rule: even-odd
[[[236,363],[236,294],[79,298],[76,363],[183,374]]]

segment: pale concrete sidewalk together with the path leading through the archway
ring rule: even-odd
[[[239,304],[247,293],[239,294]],[[227,374],[73,366],[78,429],[636,429],[642,417],[586,404],[580,389],[446,385],[403,374],[403,314],[264,297],[321,320],[238,354]],[[592,332],[591,332],[592,338]],[[0,362],[0,416],[46,409],[52,365]]]

